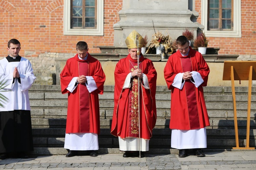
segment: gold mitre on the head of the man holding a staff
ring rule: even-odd
[[[125,40],[128,49],[138,48],[136,44],[136,35],[138,35],[139,39],[139,48],[141,48],[145,43],[143,37],[136,30],[133,30]]]

